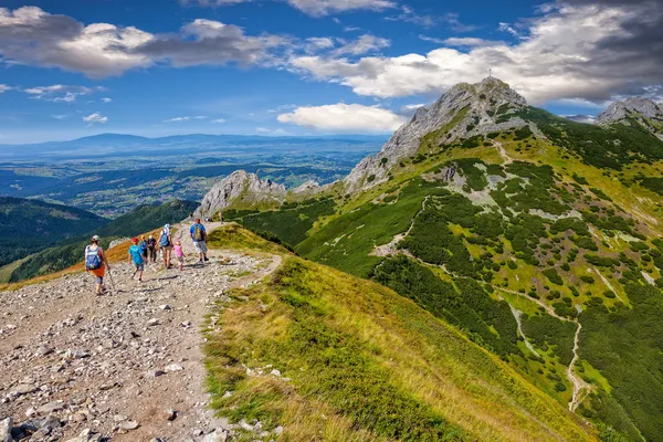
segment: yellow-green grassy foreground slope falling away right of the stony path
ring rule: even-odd
[[[278,252],[236,227],[210,243]],[[284,425],[290,441],[594,440],[562,406],[414,303],[278,253],[277,273],[233,292],[208,324],[213,404],[224,415]],[[272,368],[246,375],[269,366]]]

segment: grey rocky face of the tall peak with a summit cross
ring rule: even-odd
[[[443,143],[453,143],[524,127],[525,120],[508,115],[526,106],[523,96],[494,77],[476,84],[457,84],[431,107],[420,108],[377,156],[365,158],[344,180],[346,188],[351,192],[383,182],[391,168],[401,159],[414,156],[423,137],[433,131],[444,136]]]

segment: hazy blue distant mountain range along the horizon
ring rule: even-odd
[[[49,141],[25,145],[0,145],[0,159],[94,158],[113,155],[140,156],[155,151],[191,150],[206,151],[215,148],[235,148],[242,151],[286,149],[288,146],[306,146],[316,151],[339,148],[365,148],[366,144],[383,143],[386,136],[333,135],[314,137],[266,137],[254,135],[175,135],[147,138],[136,135],[101,134],[70,141]]]

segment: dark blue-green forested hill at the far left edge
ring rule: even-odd
[[[106,222],[94,213],[66,206],[0,198],[0,266],[98,229]]]

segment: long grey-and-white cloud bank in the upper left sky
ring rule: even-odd
[[[194,20],[179,33],[151,34],[134,27],[84,25],[36,7],[0,8],[0,56],[4,61],[60,67],[95,78],[157,63],[176,67],[254,64],[269,59],[270,50],[288,43],[278,35],[245,35],[239,27],[212,20]]]

